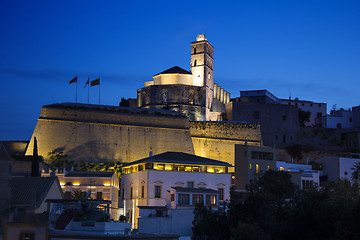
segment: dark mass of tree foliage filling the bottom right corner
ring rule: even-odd
[[[290,174],[268,171],[245,199],[232,193],[221,218],[204,207],[194,213],[193,239],[360,239],[359,185],[347,180],[299,190]]]

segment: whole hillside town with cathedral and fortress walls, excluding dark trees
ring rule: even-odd
[[[29,142],[0,143],[3,239],[186,239],[197,204],[226,210],[231,190],[246,194],[266,171],[289,172],[300,189],[352,181],[360,106],[327,114],[267,90],[230,98],[213,65],[200,34],[190,71],[154,75],[129,106],[44,106]],[[34,149],[43,162],[30,176]],[[54,166],[49,152],[71,164]],[[106,163],[119,169],[79,170]]]

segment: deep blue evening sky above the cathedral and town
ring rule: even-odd
[[[173,66],[190,70],[190,42],[215,47],[214,80],[231,97],[360,104],[360,1],[2,1],[0,140],[30,140],[41,106],[135,98]],[[98,87],[90,103],[98,103]]]

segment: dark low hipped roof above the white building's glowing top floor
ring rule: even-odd
[[[165,152],[152,157],[143,158],[128,164],[123,167],[140,164],[140,163],[178,163],[178,164],[191,164],[191,165],[211,165],[211,166],[224,166],[232,167],[227,162],[217,161],[210,158],[204,158],[193,154],[183,152]]]

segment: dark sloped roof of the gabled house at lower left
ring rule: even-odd
[[[56,176],[13,177],[11,179],[11,205],[40,207],[56,179]]]

